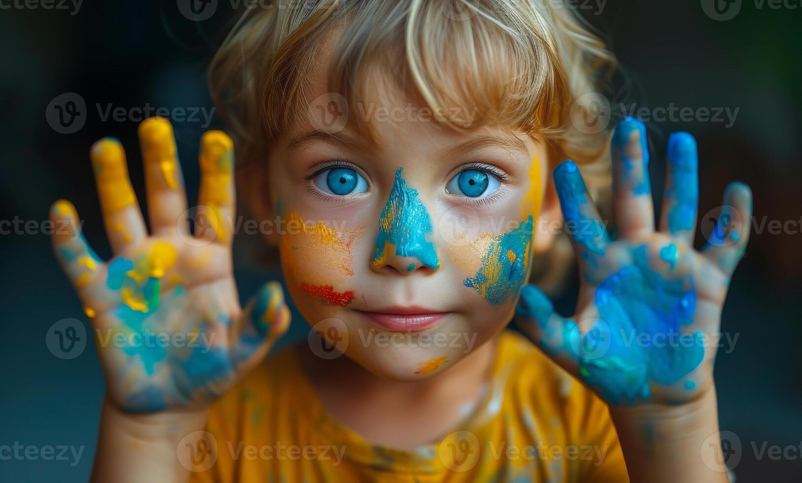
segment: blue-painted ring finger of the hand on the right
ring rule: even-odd
[[[693,245],[699,205],[699,161],[696,140],[687,132],[674,132],[668,140],[666,193],[662,201],[660,231]]]

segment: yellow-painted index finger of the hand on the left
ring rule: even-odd
[[[196,213],[197,237],[230,245],[234,217],[234,154],[231,138],[221,131],[201,137],[201,193]],[[206,230],[211,230],[211,234]],[[200,233],[203,231],[204,233]]]

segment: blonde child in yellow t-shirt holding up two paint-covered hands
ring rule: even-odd
[[[618,124],[610,155],[605,132],[569,120],[612,59],[567,2],[249,10],[210,80],[309,344],[262,360],[290,322],[281,286],[238,303],[228,136],[202,137],[209,229],[194,236],[167,120],[139,129],[150,233],[122,146],[98,141],[115,258],[93,254],[67,201],[51,217],[76,228],[56,254],[98,335],[169,343],[99,336],[94,479],[727,481],[705,337],[751,194],[731,185],[729,223],[694,250],[696,145],[674,134],[655,230],[643,124]],[[615,239],[580,174],[609,156]],[[533,264],[566,268],[550,251],[563,220],[572,319],[525,285]],[[539,348],[504,331],[513,315]]]

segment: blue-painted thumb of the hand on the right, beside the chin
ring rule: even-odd
[[[577,374],[578,359],[570,345],[577,324],[554,311],[548,297],[536,286],[520,290],[515,319],[521,331],[566,371]]]

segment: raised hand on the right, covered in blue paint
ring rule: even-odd
[[[613,137],[615,241],[577,165],[557,166],[557,194],[580,261],[576,315],[557,315],[535,286],[524,287],[516,309],[530,319],[520,326],[535,343],[614,406],[686,404],[713,387],[722,306],[749,237],[751,192],[733,183],[707,246],[694,250],[696,142],[683,132],[669,140],[655,231],[648,156],[643,124],[622,121]]]

